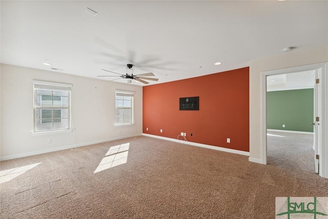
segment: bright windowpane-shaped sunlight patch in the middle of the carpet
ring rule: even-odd
[[[103,160],[101,160],[97,169],[93,173],[107,170],[128,162],[130,143],[110,147]]]

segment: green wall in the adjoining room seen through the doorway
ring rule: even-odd
[[[313,95],[313,88],[267,92],[267,128],[313,132]]]

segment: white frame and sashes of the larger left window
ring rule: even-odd
[[[54,133],[63,133],[63,132],[71,132],[71,84],[62,84],[62,83],[54,83],[54,82],[44,82],[44,81],[35,81],[33,80],[33,132],[32,134],[54,134]],[[55,107],[55,106],[36,106],[35,105],[35,98],[36,94],[35,91],[37,89],[45,89],[45,90],[59,90],[59,91],[69,91],[68,92],[68,106],[67,107]],[[65,129],[51,129],[51,130],[41,130],[36,131],[36,111],[37,109],[68,109],[68,128]]]

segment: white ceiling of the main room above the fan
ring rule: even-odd
[[[92,78],[115,75],[101,68],[125,74],[131,63],[134,74],[159,78],[150,85],[164,83],[247,67],[285,47],[327,46],[327,4],[2,1],[1,63]],[[87,7],[98,14],[86,13]]]

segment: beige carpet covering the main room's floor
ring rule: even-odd
[[[328,196],[314,171],[268,160],[139,136],[3,161],[22,167],[5,180],[23,174],[0,184],[1,218],[274,218],[276,196]]]

